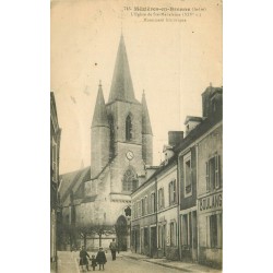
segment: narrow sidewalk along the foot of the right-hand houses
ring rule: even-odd
[[[170,261],[167,259],[156,259],[156,258],[152,259],[146,256],[132,253],[131,251],[120,252],[119,257],[130,258],[134,260],[142,260],[142,261],[155,263],[165,268],[181,270],[183,272],[197,272],[197,273],[198,272],[199,273],[203,273],[203,272],[221,273],[222,272],[222,270],[215,270],[205,265],[201,265],[199,263]]]

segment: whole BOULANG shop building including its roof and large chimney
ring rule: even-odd
[[[202,94],[205,132],[198,141],[199,261],[222,266],[223,258],[223,88]]]

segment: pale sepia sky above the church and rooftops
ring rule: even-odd
[[[154,10],[136,13],[138,8]],[[155,11],[162,8],[190,12],[168,16]],[[177,17],[181,22],[166,20]],[[210,83],[223,85],[222,17],[219,0],[51,1],[50,91],[62,130],[60,174],[91,165],[98,84],[100,80],[108,102],[121,32],[139,102],[145,91],[153,164],[159,164],[168,131],[183,131],[187,116],[202,115],[201,94]],[[158,19],[164,22],[155,22]]]

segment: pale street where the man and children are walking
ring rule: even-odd
[[[93,254],[88,252],[90,254]],[[58,273],[82,273],[79,266],[79,252],[61,251],[58,252]],[[164,268],[162,265],[153,264],[142,260],[134,260],[129,257],[117,254],[117,260],[111,260],[111,254],[106,253],[107,263],[105,264],[105,272],[119,272],[119,273],[144,273],[144,272],[156,272],[156,273],[178,273],[180,270]],[[90,269],[90,271],[93,271]],[[96,266],[96,271],[98,266]]]

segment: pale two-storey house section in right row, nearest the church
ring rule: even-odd
[[[169,132],[169,143],[163,149],[164,162],[151,167],[144,182],[131,194],[133,252],[179,259],[177,156],[173,147],[182,136],[182,132]]]

